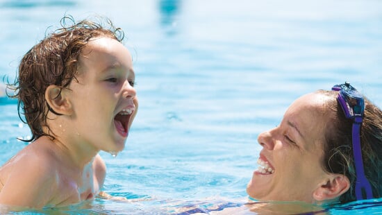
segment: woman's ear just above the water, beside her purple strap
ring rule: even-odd
[[[326,178],[322,184],[313,192],[313,198],[322,202],[324,200],[333,200],[343,193],[345,193],[350,187],[350,181],[347,176],[342,174],[331,174],[329,178]]]

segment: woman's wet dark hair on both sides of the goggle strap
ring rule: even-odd
[[[326,128],[324,156],[322,166],[329,173],[346,175],[349,178],[350,189],[340,196],[340,203],[356,200],[354,187],[356,171],[352,147],[352,119],[346,119],[342,107],[337,101],[338,91],[320,90],[317,93],[326,94],[331,99],[326,104],[331,116]],[[365,98],[365,112],[360,130],[361,150],[365,176],[372,186],[374,198],[382,196],[382,111]]]

